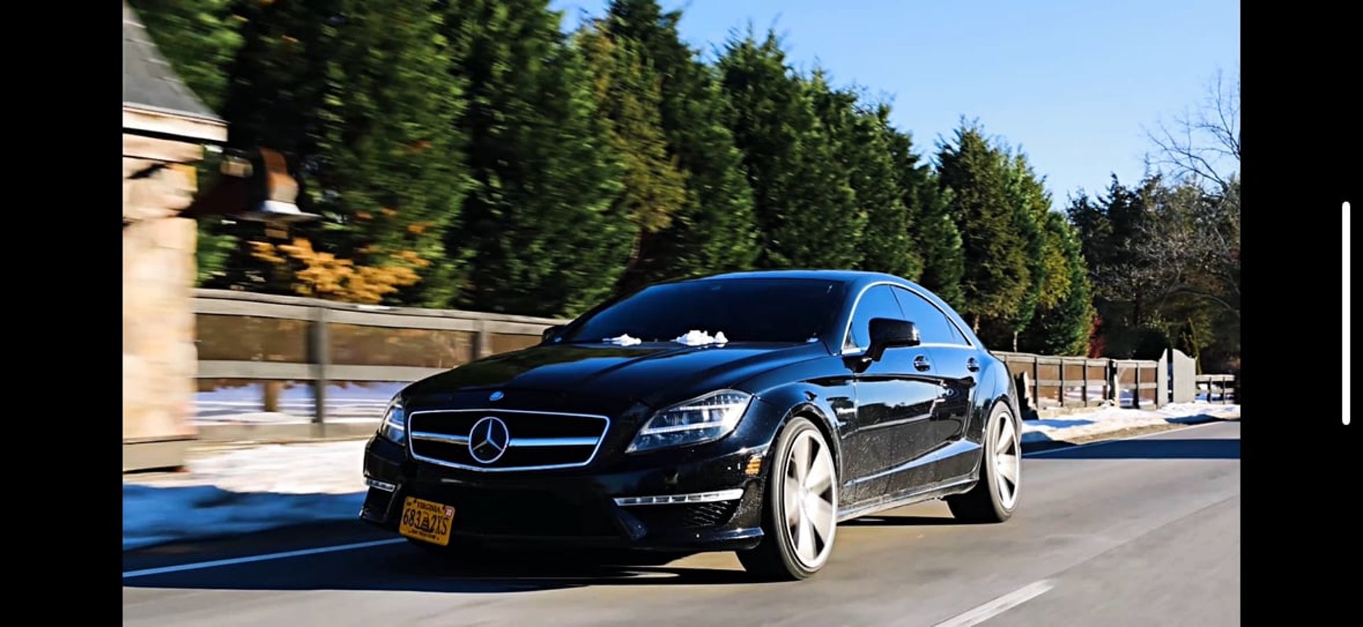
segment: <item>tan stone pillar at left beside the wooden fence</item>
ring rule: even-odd
[[[125,444],[188,440],[195,429],[195,221],[176,213],[192,200],[184,165],[132,154],[124,142],[123,439]],[[179,144],[199,155],[196,144]],[[184,158],[184,157],[181,157]],[[164,455],[162,455],[164,457]],[[173,455],[172,455],[173,457]],[[124,469],[161,465],[132,462]],[[166,462],[177,465],[179,462]]]

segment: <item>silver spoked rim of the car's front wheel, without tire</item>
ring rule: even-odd
[[[837,532],[838,485],[833,454],[816,429],[796,435],[785,458],[785,533],[795,559],[808,570],[823,566]]]

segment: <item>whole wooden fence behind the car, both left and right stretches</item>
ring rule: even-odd
[[[229,290],[196,290],[194,308],[200,425],[372,421],[402,386],[534,345],[547,327],[567,322]],[[1169,402],[1174,384],[1194,395],[1191,382],[1159,375],[1175,371],[1165,360],[995,354],[1020,380],[1029,409],[1154,408]],[[1231,375],[1199,375],[1197,386],[1201,398],[1232,402]]]

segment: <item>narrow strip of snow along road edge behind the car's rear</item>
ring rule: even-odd
[[[1022,421],[1022,442],[1052,442],[1159,424],[1190,424],[1238,418],[1239,405],[1205,402],[1171,403],[1159,409],[1101,408],[1040,420]]]

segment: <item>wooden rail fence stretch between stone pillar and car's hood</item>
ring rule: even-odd
[[[375,418],[398,387],[566,322],[203,289],[194,312],[200,423]]]

